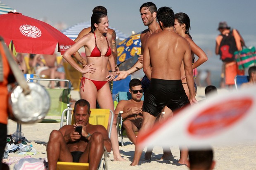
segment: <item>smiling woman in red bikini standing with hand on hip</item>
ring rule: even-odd
[[[109,46],[112,42],[112,35],[107,34],[109,20],[106,14],[95,12],[91,17],[91,31],[73,46],[71,46],[63,55],[63,58],[69,62],[75,69],[83,73],[80,84],[80,95],[82,99],[90,103],[90,108],[96,108],[96,100],[100,108],[114,111],[114,103],[109,88],[109,81],[116,76],[114,57]],[[79,67],[72,59],[71,55],[76,53],[81,47],[85,47],[87,65],[84,68]],[[107,69],[110,63],[111,71]],[[116,131],[116,118],[111,129],[111,143],[114,153],[114,161],[124,161],[119,152],[119,142]]]

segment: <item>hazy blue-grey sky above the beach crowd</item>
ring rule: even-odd
[[[0,0],[26,16],[42,20],[51,25],[57,22],[72,26],[90,21],[92,9],[98,5],[107,8],[109,24],[130,35],[147,27],[140,18],[140,6],[145,0]],[[209,61],[199,69],[219,71],[221,61],[214,54],[215,37],[220,21],[236,28],[244,37],[247,46],[256,46],[256,1],[255,0],[155,0],[156,6],[171,7],[174,13],[185,12],[190,16],[193,40],[208,55]]]

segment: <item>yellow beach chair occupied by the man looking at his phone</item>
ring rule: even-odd
[[[65,110],[63,110],[62,112],[62,121],[61,121],[61,124],[60,126],[62,127],[63,126],[63,122],[64,122],[64,115],[65,113],[68,111],[68,110],[73,110],[72,108],[66,108]],[[96,125],[96,124],[101,124],[102,126],[104,126],[106,129],[108,127],[108,123],[109,123],[109,113],[111,113],[111,121],[110,121],[110,124],[109,124],[109,138],[111,136],[111,129],[112,129],[112,126],[113,126],[113,121],[114,121],[114,113],[112,110],[109,110],[109,109],[90,109],[91,110],[91,115],[90,115],[90,118],[89,118],[89,123],[90,124],[93,124],[93,125]],[[70,113],[67,113],[67,114],[70,114]],[[67,124],[74,124],[75,121],[74,121],[74,118],[72,118],[73,116],[70,114],[70,115],[67,115],[67,121],[66,123]],[[103,153],[103,156],[104,157],[104,163],[102,164],[102,161],[100,162],[100,165],[98,166],[98,170],[101,169],[108,169],[108,166],[107,166],[107,158],[109,157],[109,154],[107,153],[107,150],[104,149],[104,153]],[[71,166],[73,165],[72,162],[69,163]],[[58,163],[57,163],[57,166],[58,166]],[[66,165],[68,166],[68,165]]]

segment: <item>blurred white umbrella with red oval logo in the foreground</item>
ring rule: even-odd
[[[204,148],[256,140],[256,86],[218,94],[139,134],[141,147]]]

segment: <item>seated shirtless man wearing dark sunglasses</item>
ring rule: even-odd
[[[116,106],[115,115],[117,116],[120,111],[123,111],[122,118],[123,128],[126,129],[128,138],[133,144],[136,144],[137,137],[134,132],[140,130],[142,124],[142,104],[141,100],[143,90],[141,88],[141,81],[137,78],[130,80],[129,92],[132,96],[130,100],[121,100]]]

